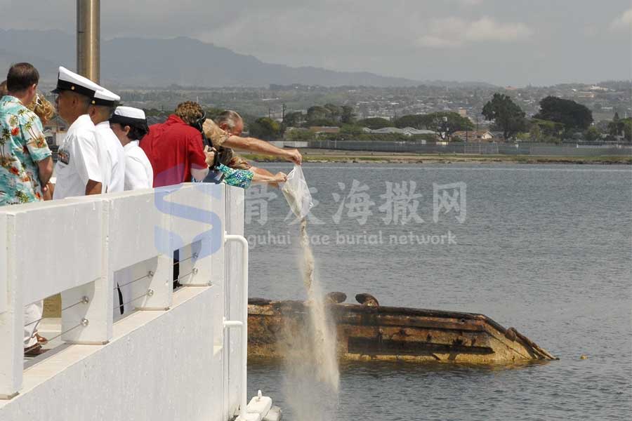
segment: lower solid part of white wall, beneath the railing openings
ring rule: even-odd
[[[178,291],[169,311],[115,323],[107,345],[72,345],[28,368],[0,420],[225,420],[213,288]]]

